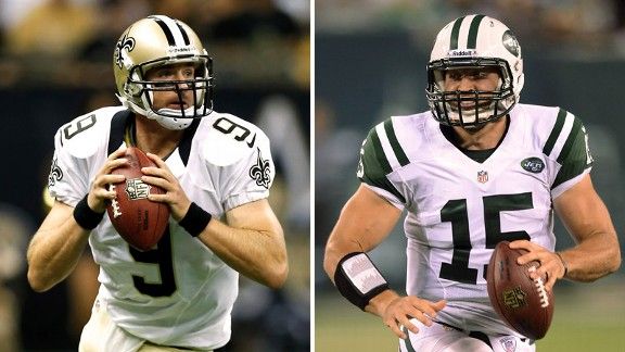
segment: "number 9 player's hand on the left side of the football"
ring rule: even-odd
[[[125,154],[126,148],[120,148],[111,153],[93,178],[89,196],[87,197],[87,204],[92,211],[104,213],[106,211],[106,202],[115,199],[116,193],[114,190],[109,189],[109,184],[122,183],[126,177],[124,175],[113,175],[111,172],[128,162],[125,158],[122,158]]]

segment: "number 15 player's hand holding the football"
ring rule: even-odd
[[[525,263],[530,263],[532,261],[540,262],[540,267],[530,273],[530,277],[532,279],[537,279],[539,277],[544,277],[544,275],[547,275],[547,282],[545,282],[545,289],[547,291],[551,291],[553,285],[556,285],[556,281],[564,277],[564,264],[558,254],[527,240],[512,241],[510,242],[510,248],[521,248],[528,251],[527,253],[519,256],[519,260],[516,261],[519,265],[524,265]]]

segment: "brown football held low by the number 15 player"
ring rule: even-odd
[[[488,297],[503,322],[525,337],[538,340],[545,337],[553,316],[553,292],[545,290],[546,277],[533,280],[530,271],[540,264],[519,265],[516,259],[527,251],[510,249],[508,241],[497,243],[488,268],[486,282]]]

